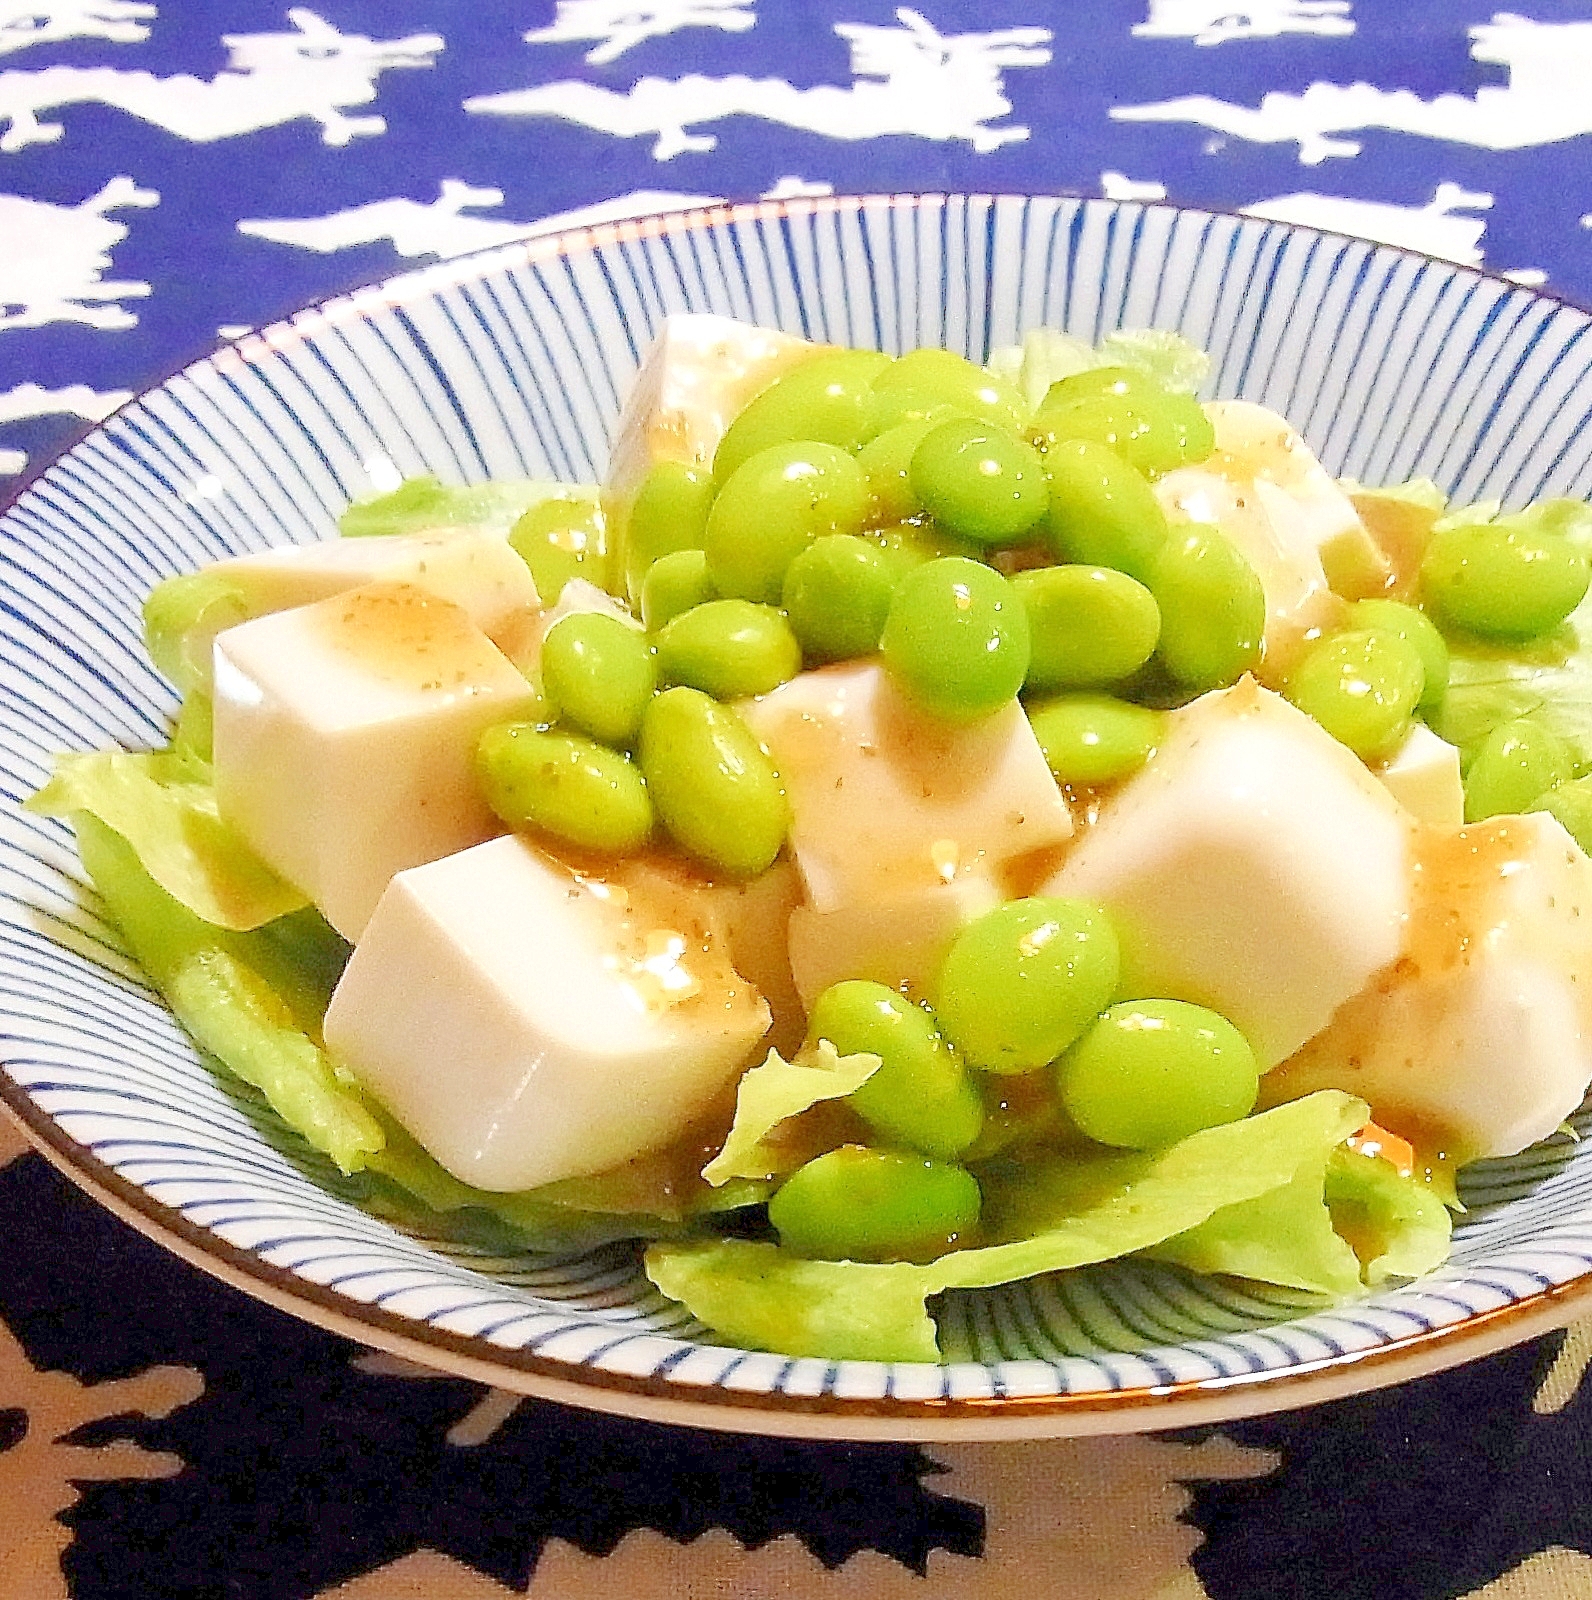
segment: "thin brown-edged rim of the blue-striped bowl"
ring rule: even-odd
[[[488,270],[526,266],[539,259],[566,256],[603,245],[722,227],[730,222],[842,211],[859,213],[864,208],[944,206],[974,200],[990,206],[1000,200],[1077,200],[1117,211],[1138,208],[1213,219],[1229,218],[1283,234],[1306,234],[1357,243],[1413,262],[1435,262],[1456,274],[1491,280],[1504,291],[1560,304],[1592,317],[1592,309],[1566,294],[1522,285],[1502,274],[1467,262],[1454,262],[1333,229],[1256,218],[1216,206],[1182,206],[1165,200],[1110,200],[1062,189],[1027,194],[947,190],[803,195],[781,200],[726,202],[509,240],[486,250],[445,258],[334,291],[277,322],[182,360],[130,395],[106,418],[85,424],[66,446],[54,451],[37,469],[27,470],[5,496],[0,496],[0,517],[6,515],[62,458],[101,432],[112,418],[146,400],[182,373],[218,363],[224,366],[253,365],[254,360],[302,341],[325,326],[342,320],[362,320],[373,309],[434,294],[440,288],[475,280]],[[354,1342],[406,1357],[434,1370],[494,1384],[520,1395],[645,1421],[723,1432],[858,1442],[946,1442],[1130,1434],[1205,1426],[1317,1405],[1408,1382],[1550,1333],[1592,1307],[1592,1270],[1589,1270],[1502,1306],[1472,1312],[1459,1322],[1387,1339],[1370,1349],[1344,1350],[1286,1368],[1122,1389],[1024,1397],[851,1398],[832,1392],[800,1395],[786,1390],[738,1390],[723,1384],[698,1386],[670,1374],[635,1376],[606,1368],[573,1366],[568,1362],[531,1350],[509,1349],[488,1344],[480,1338],[450,1333],[432,1323],[390,1312],[382,1306],[350,1299],[286,1267],[278,1267],[250,1250],[232,1245],[157,1200],[131,1179],[123,1178],[72,1139],[10,1075],[3,1061],[0,1061],[0,1107],[14,1118],[30,1144],[59,1173],[112,1214],[190,1266],[200,1267],[211,1277],[277,1310],[296,1315],[323,1331]],[[691,1341],[678,1342],[688,1347]],[[1166,1414],[1163,1406],[1170,1406],[1171,1414]]]

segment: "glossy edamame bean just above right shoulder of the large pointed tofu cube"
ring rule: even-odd
[[[1310,645],[1288,674],[1285,693],[1339,744],[1374,762],[1410,731],[1424,685],[1416,646],[1402,634],[1366,627]]]

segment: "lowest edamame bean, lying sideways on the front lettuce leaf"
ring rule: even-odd
[[[963,1166],[843,1144],[798,1166],[768,1202],[779,1243],[816,1261],[933,1261],[965,1245],[982,1195]]]

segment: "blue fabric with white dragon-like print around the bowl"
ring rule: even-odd
[[[714,197],[1165,195],[1592,301],[1589,82],[1568,0],[0,0],[0,494],[306,299]],[[1202,1435],[720,1438],[360,1352],[0,1128],[0,1600],[1586,1595],[1589,1357]]]

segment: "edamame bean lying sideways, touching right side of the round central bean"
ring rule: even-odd
[[[1011,579],[1029,618],[1030,690],[1101,688],[1138,672],[1162,630],[1155,595],[1110,566],[1040,566]]]

